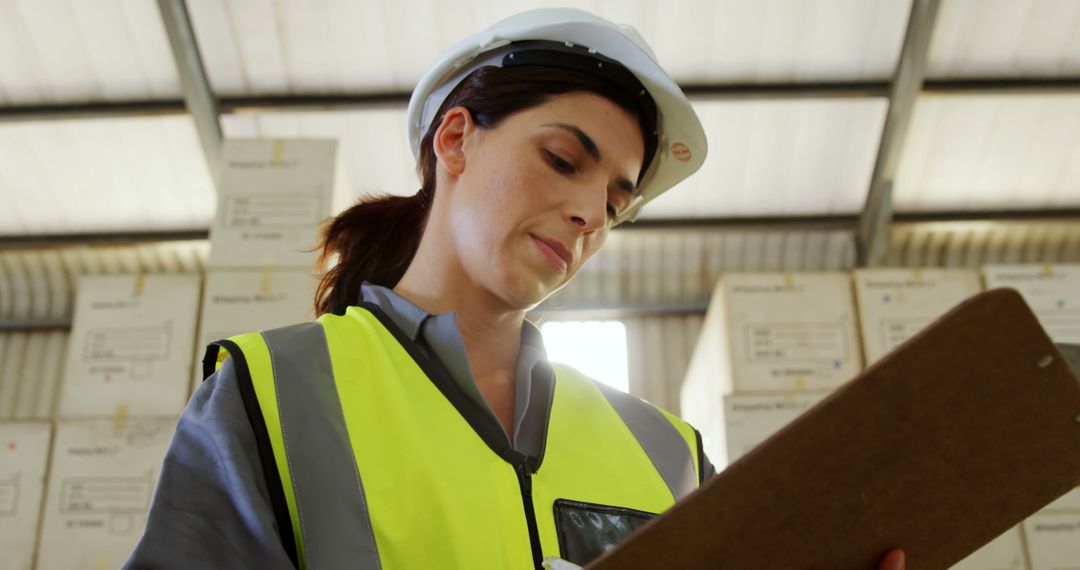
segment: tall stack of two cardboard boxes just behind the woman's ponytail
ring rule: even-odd
[[[193,388],[206,344],[314,317],[320,225],[349,199],[334,140],[228,140]]]

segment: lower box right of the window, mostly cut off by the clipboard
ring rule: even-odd
[[[731,463],[825,398],[828,392],[724,396],[724,440]],[[713,456],[710,456],[712,458]],[[725,456],[716,456],[721,461]]]

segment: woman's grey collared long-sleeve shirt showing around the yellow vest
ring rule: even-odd
[[[361,294],[442,362],[451,379],[495,417],[472,376],[454,313],[429,314],[376,285],[364,284]],[[554,372],[540,331],[527,322],[514,382],[514,433],[507,436],[514,449],[536,456],[543,446]],[[712,476],[713,465],[707,460],[703,464],[705,476]],[[281,544],[235,369],[227,359],[199,386],[180,416],[146,530],[124,568],[256,567],[294,568]]]

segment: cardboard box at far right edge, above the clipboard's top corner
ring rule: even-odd
[[[1054,342],[1080,343],[1080,264],[986,266],[986,288],[1012,287]]]

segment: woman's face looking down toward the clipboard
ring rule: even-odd
[[[463,130],[447,216],[465,279],[515,309],[558,290],[630,206],[644,152],[637,120],[585,92]]]

